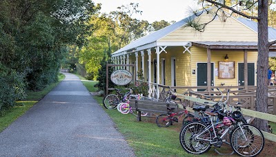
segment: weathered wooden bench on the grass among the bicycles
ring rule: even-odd
[[[149,100],[131,100],[130,107],[132,111],[137,111],[137,120],[141,121],[141,111],[148,113],[168,113],[167,107],[174,107],[172,112],[177,112],[179,110],[178,105],[175,103],[168,102],[157,102]]]

